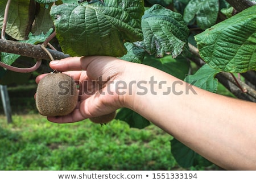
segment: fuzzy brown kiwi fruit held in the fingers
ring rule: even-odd
[[[71,113],[77,105],[76,82],[64,73],[44,76],[36,89],[36,107],[40,114],[57,117]]]

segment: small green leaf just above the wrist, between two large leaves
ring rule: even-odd
[[[127,54],[120,57],[122,60],[134,62],[134,63],[142,63],[145,55],[144,49],[141,47],[135,46],[133,43],[125,43],[125,47],[127,49]]]

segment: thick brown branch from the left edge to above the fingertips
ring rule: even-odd
[[[48,49],[48,51],[51,53],[54,60],[69,57],[69,55],[65,55],[60,51],[53,51],[52,49]],[[36,60],[51,60],[47,52],[44,51],[40,45],[21,43],[13,40],[0,39],[0,52],[15,53],[17,55],[32,57]]]

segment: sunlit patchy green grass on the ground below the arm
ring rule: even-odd
[[[56,124],[37,114],[13,120],[7,125],[0,117],[0,170],[180,169],[170,153],[172,137],[154,125]]]

